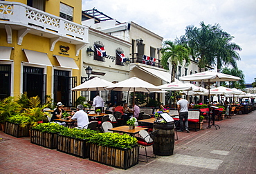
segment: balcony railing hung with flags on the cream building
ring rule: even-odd
[[[143,55],[140,55],[138,53],[130,54],[131,63],[140,63],[140,64],[146,64],[149,66],[155,66],[158,68],[163,68],[161,66],[161,60],[155,59],[155,61],[152,61],[151,59],[143,59]]]

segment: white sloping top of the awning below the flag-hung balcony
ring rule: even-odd
[[[171,81],[171,74],[162,70],[156,70],[153,68],[147,68],[144,66],[136,66],[139,70],[143,70],[147,72],[149,75],[157,77],[158,79],[162,79],[163,81],[169,82]]]

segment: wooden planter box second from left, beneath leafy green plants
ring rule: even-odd
[[[31,130],[30,142],[46,148],[57,148],[57,133],[43,133]]]

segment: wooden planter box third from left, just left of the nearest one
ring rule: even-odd
[[[89,157],[89,144],[85,139],[75,139],[57,135],[57,151],[68,153],[76,157]]]

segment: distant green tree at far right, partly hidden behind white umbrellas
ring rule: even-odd
[[[228,88],[246,88],[244,85],[244,72],[242,70],[239,70],[238,68],[223,68],[221,72],[227,75],[233,75],[241,78],[239,81],[228,81]]]

